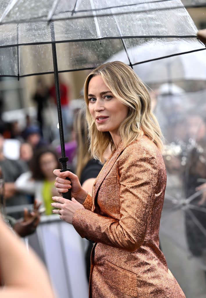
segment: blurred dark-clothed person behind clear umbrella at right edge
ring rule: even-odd
[[[190,140],[191,149],[185,167],[185,197],[203,191],[190,202],[193,208],[185,212],[186,235],[192,255],[200,258],[206,274],[206,235],[203,232],[206,230],[206,183],[203,183],[206,182],[206,121],[193,111],[188,113],[186,140]]]

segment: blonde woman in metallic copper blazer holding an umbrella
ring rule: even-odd
[[[146,87],[129,66],[116,61],[88,75],[84,96],[91,154],[102,161],[109,144],[112,153],[92,196],[77,176],[55,170],[58,192],[71,188],[75,199],[54,197],[52,206],[96,243],[90,297],[185,297],[159,249],[166,170],[162,134]]]

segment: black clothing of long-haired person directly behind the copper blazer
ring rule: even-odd
[[[88,163],[85,165],[84,169],[82,170],[82,174],[80,177],[80,183],[81,185],[90,178],[96,178],[99,174],[99,172],[102,170],[103,165],[100,164],[99,160],[91,159],[88,161]],[[89,276],[90,276],[90,267],[91,267],[91,251],[93,248],[93,243],[88,241],[88,248],[86,250],[85,254],[85,262],[86,262],[86,274],[87,279],[89,282]]]

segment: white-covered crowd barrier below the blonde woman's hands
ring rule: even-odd
[[[87,298],[85,242],[74,227],[59,216],[42,216],[29,245],[46,264],[59,298]]]

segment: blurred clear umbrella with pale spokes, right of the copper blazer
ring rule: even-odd
[[[187,298],[206,293],[206,90],[160,86],[155,114],[166,139],[160,244]]]

